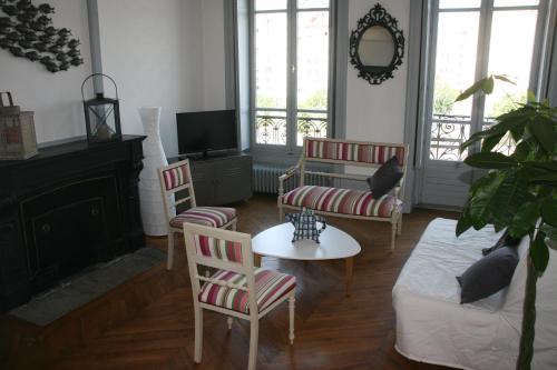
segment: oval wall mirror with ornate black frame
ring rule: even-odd
[[[358,21],[350,36],[350,62],[358,76],[371,84],[393,78],[392,72],[402,64],[404,36],[381,4],[375,4]]]

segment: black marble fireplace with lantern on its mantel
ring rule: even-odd
[[[76,141],[0,161],[0,310],[60,279],[144,247],[144,137]]]

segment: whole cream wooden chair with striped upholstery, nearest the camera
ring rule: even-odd
[[[294,343],[294,297],[296,278],[255,268],[252,237],[236,231],[184,223],[187,263],[194,298],[194,361],[202,361],[203,310],[224,313],[250,321],[250,358],[247,369],[257,362],[260,319],[289,300],[290,343]],[[201,276],[198,266],[216,269],[211,277]]]

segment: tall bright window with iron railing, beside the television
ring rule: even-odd
[[[330,0],[252,0],[252,142],[291,152],[330,133]]]

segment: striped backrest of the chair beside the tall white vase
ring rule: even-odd
[[[173,210],[176,206],[189,201],[192,207],[196,207],[192,172],[189,171],[189,160],[186,159],[170,166],[159,168],[158,178],[160,180],[160,190],[163,193],[167,221],[174,217]],[[176,200],[173,196],[183,190],[187,190],[186,197]]]

